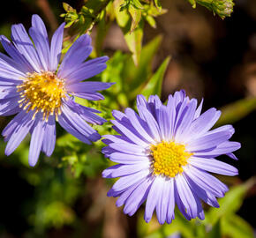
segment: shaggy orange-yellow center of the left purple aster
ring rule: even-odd
[[[19,107],[26,112],[35,109],[32,119],[38,112],[43,113],[46,121],[49,115],[55,115],[57,120],[57,115],[61,114],[62,99],[66,97],[64,80],[49,71],[27,73],[23,84],[17,86],[17,92],[22,98]]]

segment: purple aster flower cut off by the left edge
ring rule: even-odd
[[[61,57],[64,23],[49,44],[46,27],[37,15],[32,17],[30,36],[22,24],[11,26],[12,42],[4,35],[0,41],[9,54],[0,53],[0,115],[17,114],[4,131],[8,141],[5,153],[11,154],[31,133],[29,164],[34,166],[40,152],[50,156],[56,142],[56,121],[82,142],[90,144],[101,136],[88,123],[105,120],[74,101],[74,96],[103,100],[101,91],[111,83],[81,82],[106,69],[107,56],[85,62],[92,52],[91,38],[81,35]],[[32,41],[31,41],[32,39]],[[87,122],[85,122],[87,121]]]

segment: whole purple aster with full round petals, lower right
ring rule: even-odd
[[[156,211],[161,224],[174,219],[177,205],[186,219],[204,219],[200,200],[218,207],[228,187],[208,172],[237,175],[237,168],[215,157],[232,153],[240,144],[230,141],[231,125],[210,130],[221,115],[210,108],[200,115],[202,102],[190,100],[180,91],[169,95],[167,105],[157,96],[137,97],[139,115],[126,108],[113,111],[113,129],[120,135],[106,135],[102,149],[106,157],[119,164],[105,169],[105,178],[121,177],[109,190],[119,197],[117,206],[132,216],[146,200],[144,219]]]

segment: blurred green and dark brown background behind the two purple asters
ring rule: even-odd
[[[161,0],[162,9],[140,1],[143,10],[134,4],[125,6],[121,0],[64,2],[73,9],[65,4],[64,10],[62,1],[57,0],[6,1],[0,32],[10,39],[12,24],[22,22],[27,29],[32,14],[37,13],[49,34],[64,19],[69,23],[64,52],[77,35],[91,33],[91,57],[110,57],[107,70],[93,79],[117,84],[103,92],[104,101],[79,102],[102,110],[108,120],[112,109],[134,107],[138,93],[159,94],[164,101],[169,93],[184,89],[190,97],[203,97],[203,110],[222,109],[218,125],[233,123],[236,129],[232,139],[242,144],[236,152],[239,160],[227,156],[220,160],[237,167],[239,175],[218,176],[230,191],[219,199],[220,209],[204,205],[204,221],[189,222],[177,212],[171,225],[160,226],[155,217],[147,224],[143,205],[128,217],[115,206],[116,198],[106,196],[114,181],[101,176],[111,164],[101,154],[101,141],[84,145],[58,127],[52,157],[41,154],[37,166],[29,167],[29,138],[10,157],[4,155],[1,138],[0,237],[253,237],[256,1],[237,1],[226,19],[200,5],[192,9],[185,0]],[[124,9],[120,12],[121,4]],[[0,117],[1,130],[10,120]],[[110,123],[94,128],[102,135],[113,132]]]

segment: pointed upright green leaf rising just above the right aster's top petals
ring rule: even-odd
[[[154,73],[154,76],[150,78],[150,80],[147,83],[147,86],[144,87],[144,89],[141,91],[141,93],[145,96],[149,95],[158,95],[161,96],[162,93],[162,79],[164,77],[164,73],[168,67],[170,60],[170,56],[167,57],[159,69]]]

